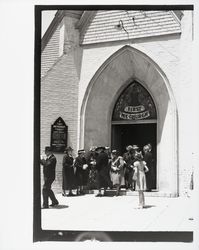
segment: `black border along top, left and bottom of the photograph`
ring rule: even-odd
[[[71,231],[42,230],[41,228],[41,181],[40,181],[40,104],[41,104],[41,14],[45,10],[194,10],[194,5],[35,5],[34,48],[34,163],[33,163],[33,242],[81,241],[97,237],[100,241],[117,242],[193,242],[193,232],[136,232],[136,231]]]

